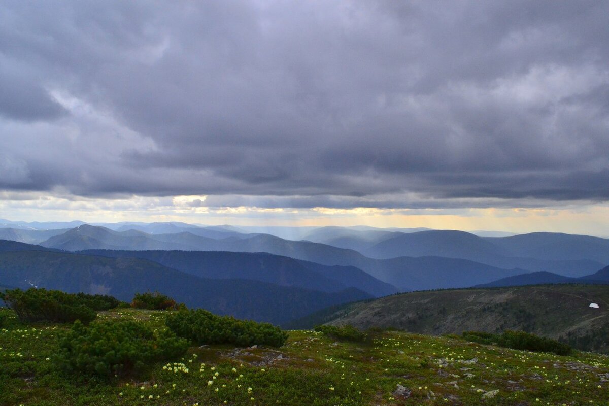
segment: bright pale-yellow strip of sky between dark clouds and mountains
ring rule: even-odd
[[[462,231],[537,231],[609,237],[609,206],[555,208],[259,208],[208,207],[204,196],[122,199],[35,197],[0,201],[0,218],[25,222],[185,222],[234,226],[372,226]]]

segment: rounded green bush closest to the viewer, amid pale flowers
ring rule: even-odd
[[[121,376],[141,370],[146,363],[175,359],[188,349],[188,341],[171,331],[153,332],[136,321],[76,321],[58,334],[57,362],[69,373],[100,377]]]

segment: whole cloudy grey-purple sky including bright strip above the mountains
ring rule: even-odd
[[[609,236],[609,2],[3,1],[0,218]]]

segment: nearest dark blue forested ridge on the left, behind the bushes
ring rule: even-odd
[[[138,258],[52,251],[0,251],[0,285],[104,293],[129,301],[136,292],[165,293],[189,307],[272,323],[371,296],[350,288],[326,293],[243,279],[205,279]]]

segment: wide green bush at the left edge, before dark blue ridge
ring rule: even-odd
[[[36,321],[72,323],[76,320],[89,323],[97,317],[97,310],[112,309],[120,303],[111,296],[35,288],[25,291],[6,290],[0,293],[0,299],[12,308],[19,320],[24,323]]]

